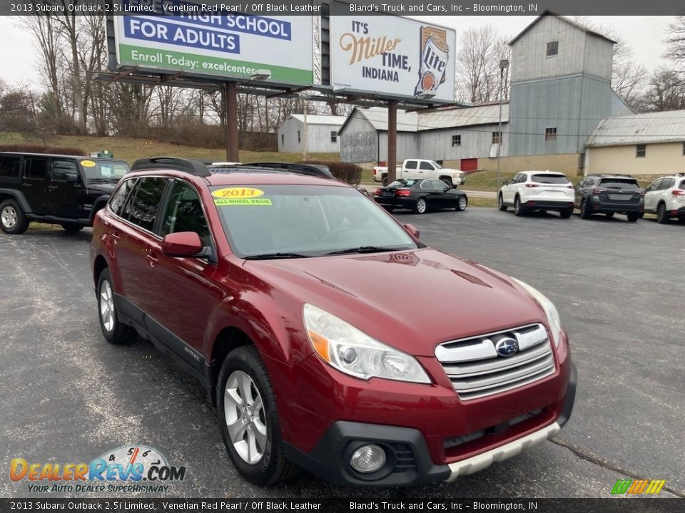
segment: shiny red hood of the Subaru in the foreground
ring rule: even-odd
[[[506,276],[435,249],[246,261],[245,269],[417,356],[438,343],[526,323],[542,309]],[[301,322],[301,321],[300,321]]]

